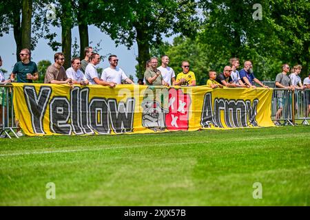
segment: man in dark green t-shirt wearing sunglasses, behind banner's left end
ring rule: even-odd
[[[15,63],[10,80],[17,83],[32,83],[32,80],[38,80],[38,68],[37,64],[30,61],[30,50],[27,48],[21,50],[19,54],[21,61]]]

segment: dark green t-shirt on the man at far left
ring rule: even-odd
[[[27,74],[34,74],[38,72],[37,64],[30,61],[25,64],[21,61],[15,63],[14,69],[12,71],[13,74],[17,76],[17,83],[32,83],[32,80],[27,79]]]

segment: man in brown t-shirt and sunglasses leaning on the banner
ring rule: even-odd
[[[65,63],[63,53],[54,54],[54,61],[55,63],[46,69],[44,83],[72,85],[72,79],[67,77],[63,67],[63,63]]]

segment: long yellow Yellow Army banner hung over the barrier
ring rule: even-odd
[[[272,89],[12,84],[15,115],[27,135],[274,126]]]

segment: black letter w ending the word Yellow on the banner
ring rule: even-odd
[[[115,99],[107,101],[110,108],[112,129],[115,133],[132,132],[134,123],[134,98],[127,98],[126,104]]]

